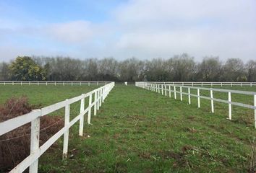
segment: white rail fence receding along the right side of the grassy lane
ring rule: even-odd
[[[211,112],[214,112],[214,101],[216,102],[223,102],[227,103],[229,105],[229,120],[231,120],[231,105],[236,105],[240,107],[247,107],[249,109],[254,110],[254,118],[255,118],[255,128],[256,128],[256,92],[245,92],[245,91],[237,91],[237,90],[231,90],[231,89],[214,89],[214,88],[202,88],[202,87],[196,87],[196,86],[182,86],[182,85],[176,85],[176,84],[163,84],[158,83],[155,84],[154,82],[135,82],[136,86],[142,87],[143,89],[148,89],[153,92],[158,92],[161,94],[165,94],[167,96],[171,97],[171,92],[174,93],[174,99],[176,99],[176,94],[180,94],[180,99],[182,101],[183,94],[188,96],[188,103],[191,104],[191,97],[197,97],[197,107],[200,107],[200,98],[202,99],[210,99],[210,107]],[[187,88],[187,92],[182,92],[183,88]],[[179,91],[177,91],[179,89]],[[191,94],[190,89],[196,89],[197,94]],[[200,91],[208,91],[210,92],[210,97],[202,96],[200,95]],[[213,97],[213,92],[225,92],[228,94],[228,100],[224,99],[217,99]],[[247,94],[253,96],[253,103],[254,105],[247,105],[240,102],[232,102],[231,101],[231,94]]]

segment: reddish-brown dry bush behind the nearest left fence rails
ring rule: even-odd
[[[0,122],[31,112],[27,97],[10,98],[0,106]],[[40,145],[64,126],[61,117],[40,117]],[[9,140],[8,140],[9,139]],[[30,154],[30,123],[0,136],[0,172],[8,172]]]

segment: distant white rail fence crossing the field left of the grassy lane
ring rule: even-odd
[[[0,81],[2,85],[103,85],[111,81]]]

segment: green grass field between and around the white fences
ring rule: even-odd
[[[0,102],[25,94],[32,104],[46,106],[93,88],[0,86]],[[247,86],[231,89],[256,91]],[[218,92],[215,96],[227,98]],[[242,95],[234,100],[252,102]],[[201,99],[199,109],[195,97],[187,105],[185,95],[181,102],[179,94],[174,100],[173,95],[117,85],[92,117],[93,125],[85,125],[84,137],[78,137],[78,124],[72,127],[69,159],[61,160],[61,138],[40,157],[40,172],[247,172],[256,136],[253,111],[233,107],[233,119],[226,120],[228,106],[215,102],[215,107],[213,114],[208,100]],[[75,115],[79,105],[73,108]]]

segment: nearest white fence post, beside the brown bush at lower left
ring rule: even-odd
[[[37,111],[37,110],[35,110]],[[40,135],[40,117],[31,121],[31,137],[30,137],[30,154],[35,153],[39,149],[39,135]],[[30,165],[30,173],[38,172],[38,159]]]

